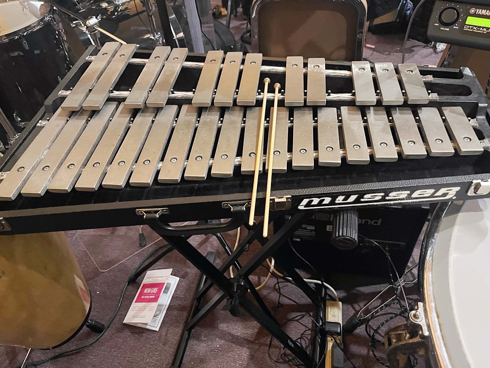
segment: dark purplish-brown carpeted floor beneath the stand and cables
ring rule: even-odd
[[[143,231],[147,236],[148,244],[154,241],[153,244],[148,245],[143,250],[138,246],[138,227],[66,233],[92,293],[92,318],[103,323],[110,318],[116,308],[123,285],[133,268],[151,249],[164,244],[163,240],[158,240],[156,234],[150,229],[144,228]],[[242,232],[242,238],[245,233],[246,231]],[[230,244],[233,244],[235,234],[236,232],[231,232],[224,236]],[[221,262],[225,258],[225,253],[215,237],[196,236],[192,237],[190,241],[202,254],[206,254],[208,250],[215,251],[218,256],[217,262]],[[251,244],[249,252],[245,253],[241,259],[242,264],[259,248],[260,245],[257,242]],[[138,251],[139,253],[121,262],[129,254]],[[414,253],[417,254],[417,252],[416,248]],[[105,259],[103,267],[94,262],[100,263],[100,260],[103,259]],[[410,264],[414,262],[415,259],[411,260]],[[100,271],[100,268],[105,269],[104,267],[110,269],[106,272]],[[139,287],[139,282],[141,282],[140,278],[138,283],[130,285],[127,289],[119,315],[98,342],[70,356],[44,364],[42,367],[170,367],[199,274],[193,265],[175,251],[153,267],[153,269],[158,268],[173,268],[172,274],[180,277],[159,332],[123,324],[124,316]],[[251,280],[258,285],[264,281],[266,274],[267,271],[261,267],[259,272],[252,275]],[[276,317],[280,322],[284,322],[295,315],[312,312],[311,303],[299,289],[282,282],[279,285],[283,294],[281,304],[284,305],[276,312]],[[355,288],[349,289],[348,292],[339,290],[339,297],[343,301],[343,320],[345,321],[352,315],[354,310],[359,310],[385,286]],[[212,289],[210,296],[215,292],[216,290]],[[407,289],[409,294],[414,292],[414,289]],[[277,285],[273,278],[260,290],[260,294],[269,307],[277,304]],[[209,300],[209,297],[206,300]],[[221,307],[222,305],[208,315],[192,333],[182,367],[281,367],[281,365],[273,363],[268,357],[270,335],[250,317],[235,318],[229,312],[222,311]],[[65,317],[68,316],[60,316],[60,318]],[[396,320],[402,322],[401,318]],[[286,332],[293,338],[299,337],[306,328],[312,328],[308,317],[302,318],[299,322],[290,322],[285,325]],[[89,342],[95,337],[94,333],[88,329],[83,329],[72,342],[56,351],[73,348]],[[345,337],[345,346],[346,353],[356,367],[381,367],[370,353],[369,339],[364,328],[359,328],[353,335]],[[56,351],[32,351],[29,361],[44,359]],[[379,351],[381,352],[381,349]],[[0,367],[19,366],[25,357],[25,353],[26,349],[24,348],[0,347]],[[271,354],[273,357],[277,357],[279,353],[279,345],[274,341]],[[349,367],[347,361],[345,361],[345,367]]]

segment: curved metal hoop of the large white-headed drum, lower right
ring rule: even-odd
[[[441,368],[451,368],[452,366],[449,361],[446,347],[443,343],[441,327],[439,326],[439,319],[436,311],[436,300],[434,298],[432,283],[432,256],[442,218],[450,204],[451,202],[440,203],[434,211],[424,235],[419,261],[422,272],[422,277],[419,278],[419,280],[423,280],[423,283],[421,283],[422,289],[419,290],[419,294],[420,299],[425,306],[425,317],[428,321],[427,324],[430,333],[428,341],[433,352],[429,354],[429,359],[433,367]]]

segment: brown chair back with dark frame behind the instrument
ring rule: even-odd
[[[365,0],[255,0],[252,51],[269,57],[362,60]]]

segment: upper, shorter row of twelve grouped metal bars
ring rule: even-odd
[[[123,74],[137,45],[108,42],[75,84],[61,108],[65,111],[100,110],[110,92]],[[131,88],[125,103],[132,108],[163,107],[187,57],[187,49],[156,47],[143,71]],[[255,105],[260,82],[262,54],[248,53],[242,68],[243,53],[210,51],[204,60],[200,77],[194,89],[192,105],[208,107]],[[375,89],[368,61],[353,61],[352,82],[356,105],[376,105],[379,95],[383,105],[423,105],[429,102],[424,78],[416,64],[399,64],[399,77],[392,63],[375,63]],[[286,58],[286,86],[284,105],[326,105],[327,85],[325,59],[310,58],[307,65],[305,96],[303,57]],[[242,71],[242,77],[237,84]],[[194,87],[194,86],[193,86]]]

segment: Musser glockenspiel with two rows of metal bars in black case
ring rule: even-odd
[[[284,87],[275,99],[264,79]],[[250,203],[256,162],[272,168],[271,210],[490,196],[487,110],[467,68],[109,42],[0,160],[3,233],[229,218]]]

